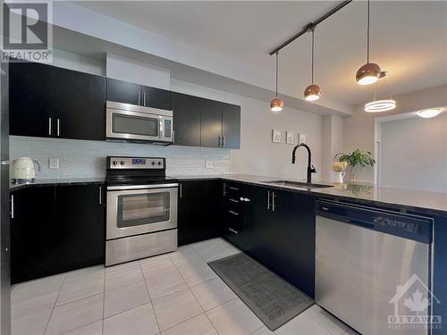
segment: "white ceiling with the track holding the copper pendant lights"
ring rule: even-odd
[[[76,2],[97,13],[182,44],[274,71],[268,52],[339,2]],[[348,4],[316,28],[315,81],[325,97],[363,104],[372,87],[355,82],[366,63],[366,2]],[[393,95],[447,82],[447,2],[371,3],[371,62],[389,71],[385,89]],[[310,36],[280,53],[280,91],[302,92],[310,81]],[[381,80],[384,88],[384,80]],[[383,91],[381,89],[380,91]]]

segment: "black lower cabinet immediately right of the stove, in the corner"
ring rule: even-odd
[[[177,223],[179,246],[219,236],[221,199],[222,183],[219,180],[180,182]]]

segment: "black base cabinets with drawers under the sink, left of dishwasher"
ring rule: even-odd
[[[223,197],[223,238],[314,297],[313,197],[261,186],[225,184],[230,191]],[[233,190],[236,195],[232,188],[239,188]],[[236,203],[240,198],[243,200]]]

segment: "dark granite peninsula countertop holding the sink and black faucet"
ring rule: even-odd
[[[428,214],[447,215],[447,193],[428,192],[414,189],[374,187],[358,184],[331,184],[325,181],[316,183],[333,185],[332,188],[298,188],[266,184],[268,180],[285,180],[283,177],[254,176],[249,174],[221,175],[178,175],[171,176],[177,180],[230,180],[269,188],[285,189],[292,192],[314,195],[316,197],[332,197],[344,200],[355,200],[369,205],[384,205],[396,208],[405,207],[409,211]],[[291,180],[291,179],[287,179]],[[303,180],[293,180],[303,181]]]

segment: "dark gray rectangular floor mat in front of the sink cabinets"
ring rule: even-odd
[[[215,273],[274,331],[314,301],[243,253],[208,263]]]

